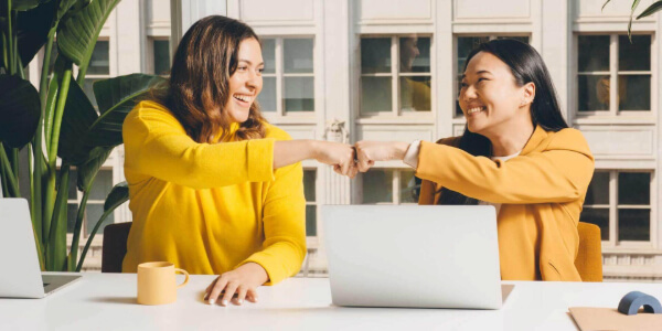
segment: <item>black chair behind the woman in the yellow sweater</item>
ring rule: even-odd
[[[121,273],[121,261],[127,255],[130,229],[131,222],[106,225],[102,248],[102,273]]]

